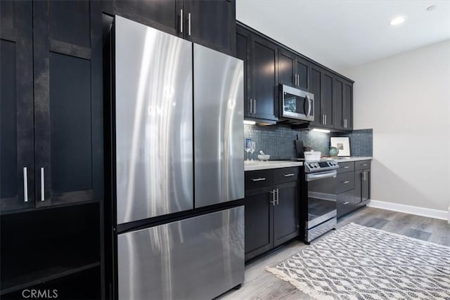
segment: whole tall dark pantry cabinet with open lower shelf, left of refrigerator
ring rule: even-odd
[[[0,17],[0,297],[101,298],[101,2]]]

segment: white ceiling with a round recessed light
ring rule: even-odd
[[[450,0],[236,0],[236,19],[337,71],[450,39]]]

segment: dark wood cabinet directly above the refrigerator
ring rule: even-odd
[[[103,10],[217,51],[236,53],[235,0],[113,0],[103,1]]]

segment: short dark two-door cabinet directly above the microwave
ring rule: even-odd
[[[278,48],[278,83],[309,91],[309,62],[284,48]]]

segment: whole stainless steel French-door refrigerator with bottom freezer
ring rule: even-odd
[[[244,280],[243,61],[120,16],[113,40],[117,298],[212,299]]]

